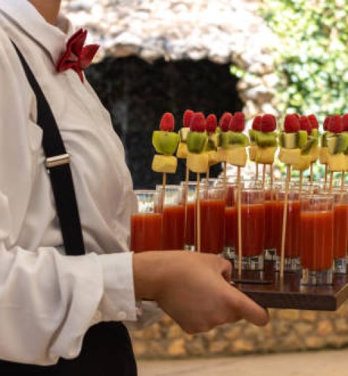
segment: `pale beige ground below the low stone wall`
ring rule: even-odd
[[[139,376],[348,376],[348,350],[138,364]]]

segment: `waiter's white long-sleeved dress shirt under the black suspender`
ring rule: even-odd
[[[61,15],[52,26],[29,1],[0,0],[0,359],[9,361],[48,365],[77,357],[91,324],[139,320],[128,252],[132,180],[93,89],[73,70],[56,72],[71,33]],[[70,154],[86,256],[62,251],[35,95],[10,39]]]

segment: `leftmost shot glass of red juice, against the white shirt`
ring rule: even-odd
[[[136,190],[138,212],[131,216],[131,251],[135,253],[161,250],[162,214],[157,212],[158,193]]]

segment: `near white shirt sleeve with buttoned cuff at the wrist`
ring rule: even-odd
[[[136,320],[132,253],[74,257],[18,245],[38,155],[33,94],[17,59],[0,27],[0,359],[49,365],[77,357],[91,324]]]

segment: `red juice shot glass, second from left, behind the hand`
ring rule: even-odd
[[[185,206],[182,187],[166,185],[156,186],[159,194],[159,207],[162,213],[162,248],[165,251],[184,249]]]

